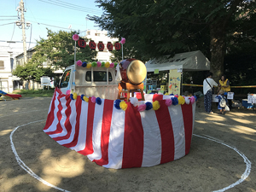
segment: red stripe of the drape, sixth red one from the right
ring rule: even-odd
[[[78,96],[76,100],[76,111],[77,111],[77,117],[76,117],[76,125],[75,125],[75,134],[73,137],[73,141],[71,143],[63,144],[62,146],[67,147],[67,148],[72,148],[77,145],[78,140],[79,140],[79,127],[80,127],[80,116],[81,116],[81,105],[82,105],[82,100],[81,97]]]

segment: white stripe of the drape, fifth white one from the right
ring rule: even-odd
[[[82,101],[81,104],[81,115],[79,125],[79,140],[76,146],[71,149],[80,151],[85,148],[86,131],[87,131],[87,118],[88,118],[88,102]]]

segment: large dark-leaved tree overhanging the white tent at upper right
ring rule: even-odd
[[[236,32],[234,26],[241,20],[239,15],[243,12],[255,15],[255,3],[250,0],[96,0],[96,3],[104,9],[103,15],[91,16],[90,20],[95,20],[113,37],[125,37],[140,59],[201,49],[210,58],[216,79],[224,72],[227,37]]]

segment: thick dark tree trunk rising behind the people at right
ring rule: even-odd
[[[218,24],[210,25],[211,35],[211,72],[213,79],[217,82],[222,73],[224,73],[224,55],[225,55],[225,32],[224,26]]]

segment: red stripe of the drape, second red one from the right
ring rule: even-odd
[[[172,119],[169,114],[168,107],[165,100],[160,100],[160,108],[155,111],[156,119],[160,128],[161,134],[161,161],[166,163],[174,160],[174,136],[172,130]]]

